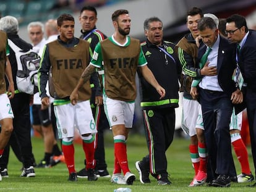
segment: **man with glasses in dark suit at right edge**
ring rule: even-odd
[[[256,169],[256,31],[248,30],[245,18],[241,15],[231,15],[226,21],[225,33],[229,41],[237,44],[236,60],[247,90],[244,99],[247,103],[250,143]],[[256,183],[252,186],[256,187]]]

